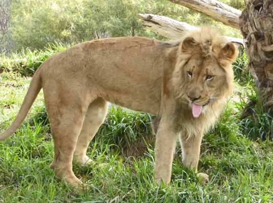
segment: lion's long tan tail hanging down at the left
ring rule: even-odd
[[[0,141],[3,141],[7,138],[9,138],[23,123],[25,117],[28,114],[28,111],[30,107],[32,106],[33,102],[35,101],[37,95],[39,94],[40,90],[42,89],[42,84],[41,84],[41,76],[39,70],[34,74],[29,88],[27,90],[27,93],[25,95],[25,98],[23,100],[23,104],[14,119],[13,123],[11,124],[10,127],[8,127],[7,130],[4,132],[0,133]]]

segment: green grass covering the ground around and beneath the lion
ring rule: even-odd
[[[0,202],[272,202],[272,122],[246,63],[244,56],[235,63],[235,93],[203,137],[198,169],[210,176],[208,184],[183,167],[178,144],[172,181],[157,187],[152,117],[111,107],[88,149],[95,163],[73,165],[90,190],[74,193],[49,167],[54,148],[41,92],[22,126],[0,143]],[[0,76],[0,131],[11,124],[28,88],[31,71],[22,73],[8,66]],[[248,114],[241,115],[246,104]]]

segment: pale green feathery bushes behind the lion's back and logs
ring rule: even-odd
[[[241,0],[240,0],[241,1]],[[142,28],[139,13],[167,16],[192,25],[209,23],[225,35],[240,32],[165,0],[18,0],[11,10],[12,52],[44,49],[48,43],[70,45],[104,37],[165,39]]]

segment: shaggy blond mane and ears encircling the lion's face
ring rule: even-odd
[[[183,127],[178,126],[178,130],[182,130],[182,133],[186,133],[190,137],[203,130],[209,130],[219,118],[228,96],[233,91],[234,75],[231,63],[236,59],[238,52],[231,43],[228,43],[224,37],[220,36],[218,30],[206,26],[188,31],[181,41],[173,45],[179,45],[176,66],[172,77],[174,93],[177,93],[176,99],[179,101],[178,104],[180,104],[177,107],[176,118],[181,120],[181,122],[177,123],[184,123]],[[186,48],[184,47],[185,45]],[[183,81],[185,81],[182,74],[183,66],[196,54],[200,55],[200,60],[215,59],[224,70],[226,79],[225,85],[218,87],[216,90],[217,96],[215,96],[213,102],[207,105],[206,111],[198,119],[189,116],[191,106],[189,105],[188,108],[185,108],[185,105],[188,105],[189,102],[185,98],[187,96],[185,91],[181,91]],[[185,121],[188,124],[185,124]],[[200,129],[198,126],[203,126],[203,128]]]

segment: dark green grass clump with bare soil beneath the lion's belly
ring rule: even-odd
[[[113,145],[114,150],[118,148],[127,156],[143,155],[154,139],[149,125],[152,117],[150,114],[127,111],[112,105],[97,133],[97,140]]]

